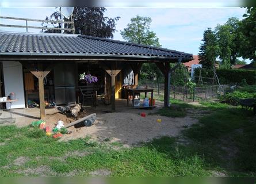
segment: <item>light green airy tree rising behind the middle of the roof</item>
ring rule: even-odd
[[[150,17],[131,18],[131,23],[120,34],[123,39],[131,43],[161,47],[158,37],[150,30],[151,21]]]

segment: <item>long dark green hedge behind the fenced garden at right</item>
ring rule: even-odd
[[[256,70],[243,69],[217,69],[216,74],[221,84],[240,83],[242,79],[246,79],[249,85],[256,83]],[[199,76],[199,69],[196,69],[195,75]],[[213,71],[206,68],[201,69],[201,76],[213,78]],[[196,82],[198,81],[198,78]],[[204,81],[204,79],[202,79]]]

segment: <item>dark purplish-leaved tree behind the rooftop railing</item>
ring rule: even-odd
[[[75,33],[113,38],[113,33],[116,31],[116,21],[118,21],[120,17],[104,17],[105,11],[105,7],[74,7],[73,19],[75,24]],[[54,20],[60,20],[59,11],[55,11],[51,14],[50,18],[46,17],[45,20],[52,18],[54,18]],[[64,20],[68,21],[67,18],[64,18]],[[60,28],[60,24],[52,23],[52,25]],[[65,28],[71,27],[67,27],[67,25],[65,25]],[[47,30],[45,32],[60,33],[60,30]]]

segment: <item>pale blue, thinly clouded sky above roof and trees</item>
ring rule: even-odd
[[[230,17],[238,17],[241,20],[245,13],[240,7],[216,7],[216,8],[148,8],[148,7],[107,7],[105,16],[121,17],[116,22],[117,32],[114,40],[124,39],[120,31],[127,27],[132,17],[136,15],[151,17],[151,30],[156,33],[163,48],[198,54],[198,48],[202,43],[202,35],[207,28],[214,29],[217,24],[224,24]],[[41,8],[12,8],[0,7],[0,16],[44,19],[55,11],[55,7]],[[1,24],[25,25],[24,21],[3,20]],[[40,22],[29,22],[28,25],[40,26]],[[25,28],[6,28],[1,30],[25,32]],[[29,29],[29,32],[40,32],[39,29]]]

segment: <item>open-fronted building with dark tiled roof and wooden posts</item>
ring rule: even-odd
[[[124,84],[137,85],[140,66],[154,62],[165,76],[165,106],[169,106],[169,63],[189,62],[192,54],[78,34],[0,32],[1,92],[15,92],[12,108],[25,108],[39,98],[41,118],[45,101],[78,102],[83,72],[97,76],[98,93],[121,98]]]

